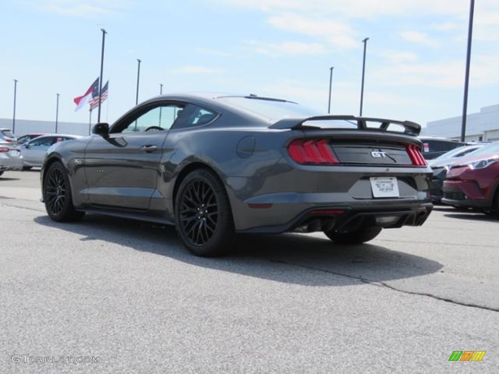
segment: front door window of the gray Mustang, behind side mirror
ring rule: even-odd
[[[182,113],[183,105],[165,105],[155,107],[143,113],[137,119],[125,124],[122,133],[169,130]]]

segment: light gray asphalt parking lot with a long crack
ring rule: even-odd
[[[437,206],[370,244],[254,235],[206,259],[172,227],[52,222],[38,179],[0,177],[2,373],[498,373],[498,218]]]

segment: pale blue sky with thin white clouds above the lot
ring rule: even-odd
[[[462,113],[469,0],[2,0],[0,118],[88,122],[74,112],[99,75],[103,120],[163,92],[276,96],[331,113],[428,121]],[[468,113],[499,104],[499,1],[475,4]],[[101,26],[103,25],[103,26]],[[95,112],[94,112],[95,113]],[[96,118],[96,114],[95,117]]]

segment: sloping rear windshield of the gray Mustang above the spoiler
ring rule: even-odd
[[[273,121],[283,118],[302,118],[321,114],[318,110],[310,109],[291,101],[240,96],[225,96],[219,99]]]

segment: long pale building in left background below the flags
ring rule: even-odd
[[[57,133],[68,135],[88,135],[88,123],[57,122]],[[12,130],[11,118],[0,118],[0,129]],[[55,121],[33,121],[15,119],[14,135],[19,137],[24,134],[54,133]]]

